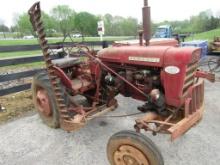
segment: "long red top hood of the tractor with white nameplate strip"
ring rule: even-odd
[[[198,61],[200,54],[200,49],[193,47],[120,46],[99,51],[98,58],[103,62],[163,67]]]

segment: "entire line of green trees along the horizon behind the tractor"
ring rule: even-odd
[[[107,36],[136,36],[137,31],[142,28],[136,18],[124,18],[111,14],[94,15],[89,12],[77,13],[67,5],[58,5],[49,14],[42,11],[42,19],[48,37],[60,35],[65,37],[73,33],[96,36],[99,20],[104,21]],[[164,24],[171,25],[175,33],[199,33],[220,28],[220,14],[213,16],[211,10],[207,10],[183,21],[152,22],[152,33],[157,26]],[[0,32],[19,32],[20,37],[35,35],[27,13],[20,14],[15,25],[10,28],[0,23]]]

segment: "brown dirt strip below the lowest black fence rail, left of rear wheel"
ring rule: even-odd
[[[0,104],[3,107],[0,123],[24,116],[34,109],[30,90],[0,97]]]

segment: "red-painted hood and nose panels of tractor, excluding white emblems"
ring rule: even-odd
[[[146,66],[161,68],[161,83],[165,90],[166,103],[172,106],[184,104],[183,86],[186,77],[186,69],[190,63],[195,63],[200,57],[199,48],[191,47],[168,47],[168,46],[119,46],[103,49],[98,52],[98,58],[108,64],[129,64],[134,66]],[[129,57],[143,59],[158,59],[158,62],[129,60]],[[167,66],[179,68],[179,73],[170,74],[165,72]],[[136,92],[134,92],[137,95]],[[132,96],[140,98],[139,96]]]

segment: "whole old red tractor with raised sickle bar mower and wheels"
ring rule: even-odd
[[[150,41],[147,0],[139,42],[117,43],[97,53],[78,45],[78,55],[56,60],[50,58],[39,2],[29,15],[46,64],[46,71],[33,78],[33,100],[48,126],[79,129],[116,109],[118,94],[143,101],[137,107],[143,115],[135,120],[135,131],[121,131],[109,139],[110,164],[162,165],[160,151],[141,130],[167,133],[174,140],[202,118],[203,78],[214,81],[214,76],[198,69],[200,48],[181,48],[173,40]]]

